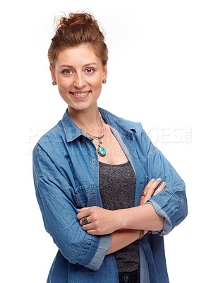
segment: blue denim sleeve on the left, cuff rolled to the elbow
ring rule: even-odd
[[[111,245],[111,235],[92,236],[83,231],[69,194],[71,185],[38,144],[33,151],[33,177],[44,227],[64,258],[98,270]]]

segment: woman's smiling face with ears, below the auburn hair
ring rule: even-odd
[[[52,69],[59,93],[68,110],[87,110],[96,107],[102,91],[102,80],[107,78],[107,67],[92,51],[90,45],[79,45],[61,50]]]

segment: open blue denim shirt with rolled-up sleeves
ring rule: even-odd
[[[99,112],[133,166],[135,206],[150,179],[160,177],[166,182],[166,188],[147,201],[164,216],[164,229],[146,234],[138,242],[140,282],[167,283],[163,236],[187,215],[185,184],[140,123],[116,117],[102,108]],[[114,255],[106,255],[111,234],[89,235],[76,217],[78,208],[102,207],[99,163],[93,139],[73,123],[67,110],[35,146],[33,175],[44,227],[59,248],[47,283],[118,283]]]

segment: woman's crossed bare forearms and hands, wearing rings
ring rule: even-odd
[[[140,230],[143,234],[147,231],[161,231],[164,227],[164,217],[159,216],[151,204],[145,204],[155,192],[157,195],[164,190],[166,183],[152,179],[144,188],[145,196],[140,199],[138,207],[128,209],[108,210],[101,207],[85,207],[78,210],[78,221],[83,230],[90,235],[105,235],[112,233],[111,247],[107,254],[114,253],[133,243],[140,237]],[[87,217],[89,224],[83,224],[83,217]]]

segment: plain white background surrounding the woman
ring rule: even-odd
[[[35,198],[32,149],[66,110],[47,61],[54,16],[85,8],[107,33],[99,106],[142,122],[186,181],[188,217],[165,237],[170,282],[216,282],[217,1],[20,0],[0,8],[1,282],[46,282],[56,254]]]

